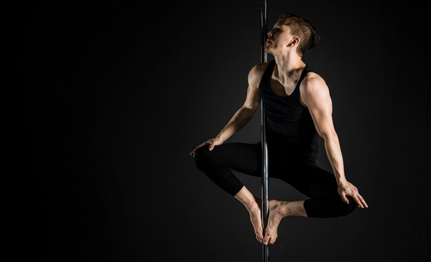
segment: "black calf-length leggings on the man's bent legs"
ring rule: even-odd
[[[209,145],[199,148],[195,163],[209,179],[232,196],[244,185],[232,170],[262,177],[262,144],[223,143],[209,150]],[[357,203],[348,196],[344,203],[337,191],[337,181],[332,172],[316,165],[315,159],[296,157],[282,146],[268,145],[268,175],[285,181],[310,199],[305,199],[308,217],[346,216],[355,210]]]

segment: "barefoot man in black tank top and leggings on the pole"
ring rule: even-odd
[[[213,139],[200,143],[190,154],[211,181],[238,199],[249,211],[256,239],[275,243],[277,227],[286,216],[337,217],[368,208],[357,188],[344,175],[343,158],[332,119],[332,101],[324,79],[308,70],[302,57],[315,48],[319,35],[306,19],[282,14],[268,32],[266,52],[274,60],[259,63],[249,72],[244,105]],[[224,143],[248,123],[260,101],[266,113],[268,174],[286,181],[309,197],[299,201],[269,201],[265,232],[261,199],[252,194],[232,170],[262,176],[262,145]],[[318,139],[324,139],[329,172],[316,165]]]

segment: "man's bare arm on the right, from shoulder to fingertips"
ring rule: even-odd
[[[343,156],[333,124],[333,106],[328,85],[317,75],[307,77],[304,80],[301,98],[310,111],[319,136],[324,139],[326,154],[333,168],[335,179],[337,179],[341,199],[348,203],[346,196],[352,196],[359,207],[364,208],[365,206],[368,208],[368,205],[359,194],[355,185],[348,182],[344,174]]]

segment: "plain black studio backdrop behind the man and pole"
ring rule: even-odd
[[[259,1],[25,3],[17,19],[43,261],[261,261],[246,209],[189,152],[242,105],[260,62]],[[429,45],[425,8],[268,1],[322,37],[304,60],[333,99],[348,181],[369,208],[288,217],[271,261],[427,261]],[[269,57],[271,59],[271,57]],[[229,141],[260,141],[260,112]],[[321,141],[319,165],[330,170]],[[260,179],[237,173],[255,194]],[[302,199],[270,179],[270,198]]]

